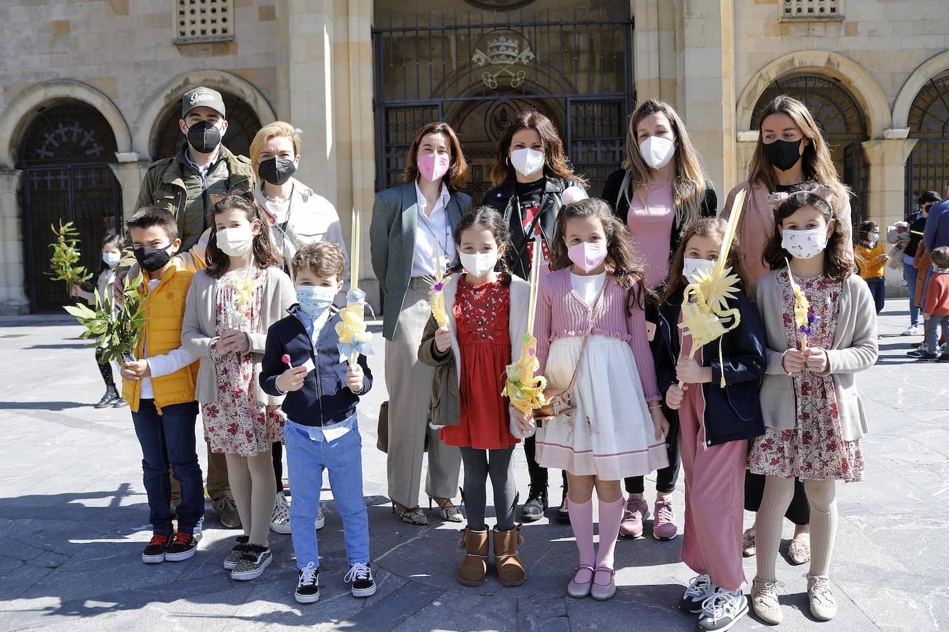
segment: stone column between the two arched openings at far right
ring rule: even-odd
[[[886,226],[902,221],[906,206],[906,158],[916,146],[916,138],[907,138],[909,129],[884,130],[883,138],[863,143],[864,157],[869,166],[869,184],[866,191],[866,219],[880,225],[883,238]],[[854,226],[854,231],[856,231]],[[906,296],[902,271],[886,268],[886,292],[890,296]]]

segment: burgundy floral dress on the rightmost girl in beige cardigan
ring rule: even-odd
[[[794,293],[788,270],[778,272],[784,298],[784,332],[788,346],[800,347],[801,335],[794,322]],[[820,320],[811,327],[809,347],[830,349],[837,330],[842,283],[823,277],[795,279]],[[864,479],[860,441],[844,441],[837,398],[830,375],[805,370],[793,378],[797,421],[790,430],[765,428],[752,443],[748,469],[784,479]]]

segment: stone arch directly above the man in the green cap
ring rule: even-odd
[[[145,102],[139,119],[136,121],[132,138],[135,151],[140,159],[148,159],[152,147],[152,138],[156,134],[155,126],[160,122],[162,113],[170,101],[181,96],[198,85],[230,92],[251,105],[262,123],[277,119],[270,101],[250,81],[222,70],[198,70],[178,75],[156,90]]]

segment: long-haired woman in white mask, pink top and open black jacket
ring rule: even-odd
[[[665,284],[682,230],[698,217],[714,216],[718,203],[679,115],[668,103],[656,100],[643,102],[630,118],[623,168],[606,178],[602,197],[628,228],[633,249],[645,266],[646,283],[654,290]],[[646,319],[654,324],[659,319],[652,306]],[[673,424],[669,465],[656,473],[653,536],[661,540],[679,532],[671,497],[679,479],[678,438],[679,425]],[[642,521],[649,517],[643,478],[626,479],[625,488],[629,498],[620,534],[640,537]]]

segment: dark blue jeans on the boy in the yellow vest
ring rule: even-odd
[[[132,413],[135,434],[141,445],[149,521],[158,535],[172,534],[169,465],[181,486],[181,503],[176,510],[178,532],[199,532],[204,519],[203,478],[195,451],[196,419],[197,402],[162,406],[159,415],[155,400],[140,400],[139,412]]]

